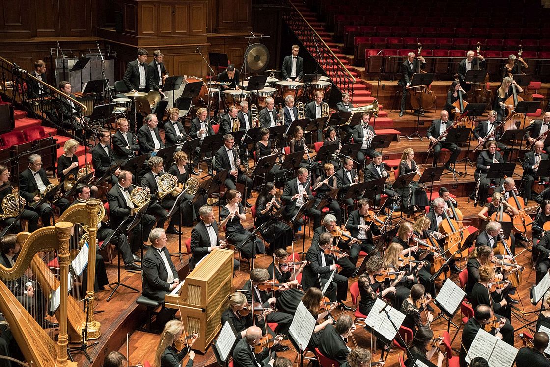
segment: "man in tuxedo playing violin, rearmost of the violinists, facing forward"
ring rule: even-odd
[[[359,209],[349,213],[348,222],[345,229],[347,229],[351,237],[357,240],[351,243],[351,249],[349,251],[349,261],[351,264],[357,264],[357,258],[359,258],[360,251],[365,251],[370,254],[374,249],[374,241],[372,235],[380,235],[380,228],[377,226],[375,218],[375,212],[369,211],[368,199],[361,199],[357,202]]]

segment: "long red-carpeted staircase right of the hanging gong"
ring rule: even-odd
[[[289,12],[286,12],[292,15],[285,15],[285,21],[289,28],[324,69],[329,78],[334,81],[340,91],[348,92],[354,105],[365,106],[372,103],[376,99],[368,90],[372,85],[360,78],[361,70],[353,67],[351,59],[341,53],[342,45],[332,41],[333,34],[326,31],[324,22],[318,21],[316,14],[299,0],[287,0],[287,3],[292,8]],[[320,37],[320,40],[317,41],[318,48],[311,41],[311,30],[315,31],[315,34]],[[324,50],[325,46],[329,50]],[[318,53],[321,53],[321,60],[318,59]],[[331,60],[332,58],[337,60]],[[382,107],[379,106],[379,108]],[[380,109],[375,124],[377,129],[387,129],[393,127],[393,120],[388,118],[386,111]]]

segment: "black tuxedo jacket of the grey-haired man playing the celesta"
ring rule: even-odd
[[[174,263],[172,262],[170,251],[166,247],[163,247],[161,251],[170,264],[168,271],[172,272],[174,278],[179,278],[178,272],[175,270]],[[168,279],[168,271],[158,249],[151,246],[141,262],[141,273],[143,275],[141,294],[158,302],[164,302],[164,296],[171,292],[170,284],[166,281]]]

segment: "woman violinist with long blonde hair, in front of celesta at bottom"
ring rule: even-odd
[[[185,367],[193,366],[193,360],[195,359],[195,352],[189,348],[196,342],[197,337],[191,337],[189,342],[189,348],[183,348],[181,352],[174,347],[174,342],[182,336],[183,324],[180,320],[171,320],[166,323],[164,330],[161,333],[161,340],[158,343],[157,351],[155,352],[155,361],[153,366],[155,367],[179,367],[180,362],[185,357],[185,354],[189,353],[189,361]],[[184,342],[185,343],[185,342]]]

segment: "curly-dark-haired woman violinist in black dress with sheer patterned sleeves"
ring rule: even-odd
[[[367,260],[365,272],[359,276],[359,312],[368,315],[378,297],[394,298],[395,287],[387,287],[384,282],[377,282],[375,275],[380,273],[384,267],[384,262],[378,256],[372,256]]]

